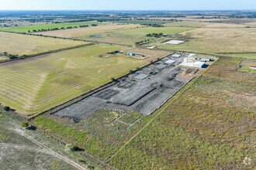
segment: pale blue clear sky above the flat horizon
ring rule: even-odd
[[[0,0],[0,10],[255,10],[256,0]]]

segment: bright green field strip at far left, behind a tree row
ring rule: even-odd
[[[54,29],[54,28],[59,28],[64,27],[65,29],[69,26],[92,26],[92,24],[98,24],[98,25],[103,25],[103,24],[109,24],[105,22],[64,22],[64,23],[57,23],[57,24],[45,24],[45,25],[36,25],[36,26],[12,26],[12,27],[2,27],[0,30],[5,30],[5,31],[10,31],[10,32],[28,32],[29,30],[33,32],[33,29]],[[37,32],[40,34],[40,32]]]

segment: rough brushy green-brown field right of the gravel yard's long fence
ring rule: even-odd
[[[110,159],[118,169],[254,167],[254,73],[219,59]],[[218,88],[216,88],[218,87]]]

